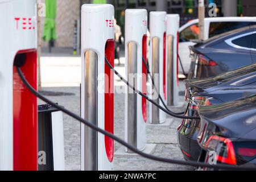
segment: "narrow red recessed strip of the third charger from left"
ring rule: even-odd
[[[142,56],[147,63],[147,35],[143,35],[142,38]],[[147,68],[142,61],[142,93],[147,94]],[[147,122],[147,100],[142,97],[142,115],[144,122]]]

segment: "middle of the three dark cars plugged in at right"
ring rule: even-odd
[[[202,80],[185,80],[188,102],[185,114],[198,116],[204,105],[217,105],[256,94],[256,64],[236,69],[222,75]],[[197,160],[200,147],[197,135],[201,128],[200,119],[183,119],[177,128],[177,140],[187,160]]]

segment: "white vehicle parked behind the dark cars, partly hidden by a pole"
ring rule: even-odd
[[[180,27],[179,35],[179,56],[185,74],[188,74],[191,64],[189,57],[189,46],[195,43],[191,39],[199,39],[198,19],[189,21]],[[204,19],[204,40],[220,35],[227,31],[232,31],[242,27],[249,27],[256,24],[256,17],[214,17]],[[179,73],[183,74],[181,65],[179,65]]]

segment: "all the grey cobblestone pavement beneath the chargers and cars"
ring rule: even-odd
[[[183,84],[180,84],[181,86]],[[48,96],[52,101],[58,102],[65,108],[80,114],[79,87],[43,88],[44,91],[72,93],[69,96]],[[114,101],[114,133],[124,139],[124,107],[125,94],[115,94]],[[183,97],[180,97],[182,100]],[[42,104],[39,101],[39,104]],[[177,111],[177,110],[176,110]],[[154,155],[172,159],[183,159],[177,147],[176,127],[180,121],[174,120],[170,126],[147,126],[147,142],[156,143]],[[64,145],[65,145],[65,169],[80,170],[80,123],[64,114]],[[121,145],[114,144],[115,151]],[[192,167],[177,166],[147,160],[141,156],[125,155],[115,156],[114,170],[191,170]]]

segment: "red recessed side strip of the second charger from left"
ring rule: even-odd
[[[105,56],[114,68],[114,40],[108,40],[105,46]],[[114,73],[105,63],[105,130],[114,134]],[[105,136],[105,150],[109,162],[114,158],[114,140]]]

